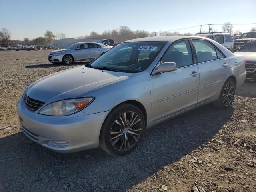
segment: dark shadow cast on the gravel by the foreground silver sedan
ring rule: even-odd
[[[230,121],[234,108],[202,106],[146,131],[134,152],[124,157],[100,148],[59,154],[22,132],[0,139],[3,191],[125,191],[210,140]],[[82,136],[81,136],[82,137]],[[179,169],[186,167],[179,164]],[[15,182],[13,182],[15,179]]]

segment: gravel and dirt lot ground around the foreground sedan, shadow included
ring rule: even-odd
[[[146,132],[116,158],[101,149],[58,154],[20,132],[16,103],[26,86],[71,66],[48,51],[0,52],[0,191],[256,191],[256,83],[246,82],[228,110],[206,105]]]

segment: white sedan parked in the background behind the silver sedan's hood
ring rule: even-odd
[[[112,47],[94,42],[80,42],[49,53],[48,60],[52,63],[63,62],[71,64],[73,61],[93,60]]]

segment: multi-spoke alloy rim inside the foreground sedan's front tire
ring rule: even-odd
[[[142,122],[136,112],[128,111],[120,114],[110,130],[110,142],[115,150],[127,151],[139,140]]]

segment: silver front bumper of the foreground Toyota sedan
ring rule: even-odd
[[[20,99],[17,105],[21,129],[28,138],[50,150],[71,153],[97,148],[107,112],[86,115],[46,116],[29,110]]]

